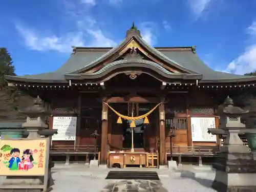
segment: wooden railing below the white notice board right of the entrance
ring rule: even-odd
[[[173,155],[214,155],[219,151],[217,146],[173,146]],[[170,154],[170,147],[166,147]]]

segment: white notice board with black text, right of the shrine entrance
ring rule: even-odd
[[[216,135],[208,134],[208,129],[216,129],[215,117],[191,117],[192,141],[217,142]]]

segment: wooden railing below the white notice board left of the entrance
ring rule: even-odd
[[[86,153],[94,153],[94,145],[52,145],[50,147],[51,154],[65,154],[65,153],[74,153],[74,154],[86,154]],[[96,147],[96,152],[98,153],[99,146]]]

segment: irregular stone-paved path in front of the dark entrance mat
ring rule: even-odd
[[[159,180],[113,180],[101,192],[168,192]]]

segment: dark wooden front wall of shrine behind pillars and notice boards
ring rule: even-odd
[[[80,127],[77,131],[79,142],[77,145],[93,145],[94,140],[90,136],[95,130],[100,134],[101,132],[101,110],[102,103],[96,98],[98,96],[81,96],[81,111],[80,111]],[[59,99],[56,98],[52,104],[52,108],[78,108],[78,96],[74,95]],[[190,93],[172,93],[166,97],[165,103],[165,119],[172,119],[173,126],[176,126],[176,137],[173,139],[174,146],[209,146],[216,145],[215,142],[192,142],[190,117],[214,117],[214,114],[191,114],[191,109],[194,108],[211,108],[215,109],[215,99],[207,92],[190,92]],[[124,108],[124,103],[123,108]],[[122,105],[116,103],[116,106]],[[152,108],[152,104],[145,103],[145,106]],[[154,104],[153,104],[154,105]],[[54,116],[75,116],[76,114],[54,114]],[[159,140],[159,112],[156,110],[150,117],[150,125],[144,132],[144,146],[146,151],[158,150]],[[123,129],[122,125],[117,124],[117,116],[109,110],[108,119],[108,140],[112,148],[122,148]],[[177,123],[179,121],[179,123]],[[183,122],[184,121],[184,122]],[[217,121],[216,121],[217,122]],[[53,117],[49,117],[49,128],[52,129]],[[166,123],[166,122],[165,122]],[[179,129],[178,128],[179,124]],[[217,122],[218,125],[218,122]],[[181,127],[183,126],[183,127]],[[169,127],[166,126],[166,146],[170,146],[170,140],[167,136]],[[100,139],[99,139],[100,140]],[[98,140],[98,142],[99,142]],[[74,141],[53,141],[54,145],[74,145]],[[98,143],[100,144],[100,142]]]

